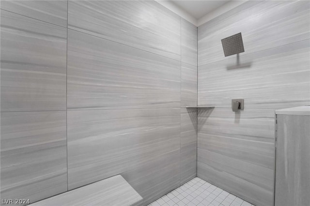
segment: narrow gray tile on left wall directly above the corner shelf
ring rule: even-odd
[[[197,106],[197,66],[181,63],[181,106]]]

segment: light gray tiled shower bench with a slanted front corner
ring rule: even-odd
[[[143,198],[121,175],[67,191],[31,206],[140,206]]]

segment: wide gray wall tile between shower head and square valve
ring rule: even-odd
[[[198,104],[288,108],[310,104],[310,41],[305,40],[198,68]],[[289,94],[289,95],[288,95]]]

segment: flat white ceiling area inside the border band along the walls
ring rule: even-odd
[[[171,2],[199,20],[229,0],[171,0]]]

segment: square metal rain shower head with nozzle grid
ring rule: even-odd
[[[225,57],[244,52],[241,32],[222,39]]]

